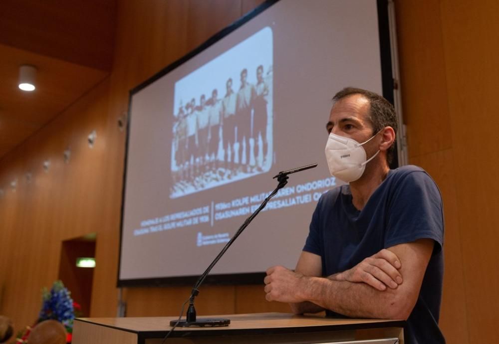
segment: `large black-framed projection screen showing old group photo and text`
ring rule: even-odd
[[[289,182],[207,282],[294,268],[315,204],[339,184],[325,124],[345,86],[393,100],[386,1],[265,2],[130,93],[118,286],[191,284]]]

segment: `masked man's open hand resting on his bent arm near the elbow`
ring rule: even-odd
[[[380,291],[386,290],[386,287],[396,289],[402,283],[402,275],[399,272],[401,267],[395,253],[383,249],[353,268],[330,278],[336,281],[364,282]]]

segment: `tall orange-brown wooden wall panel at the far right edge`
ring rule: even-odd
[[[470,343],[499,340],[499,3],[442,1]]]

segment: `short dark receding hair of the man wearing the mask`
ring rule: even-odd
[[[395,114],[395,108],[388,100],[383,98],[377,93],[367,91],[361,88],[355,87],[345,87],[333,97],[333,101],[337,102],[340,99],[346,98],[348,96],[360,94],[369,101],[369,121],[373,126],[373,134],[376,134],[381,129],[385,127],[392,127],[397,135],[397,115]],[[392,146],[386,152],[386,160],[388,164],[391,164],[395,157],[395,141]]]

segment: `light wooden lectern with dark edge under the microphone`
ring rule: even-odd
[[[220,316],[217,316],[220,317]],[[187,343],[369,343],[403,344],[404,321],[332,319],[288,313],[225,315],[231,325],[176,328],[165,344]],[[174,317],[79,318],[73,344],[161,344]]]

